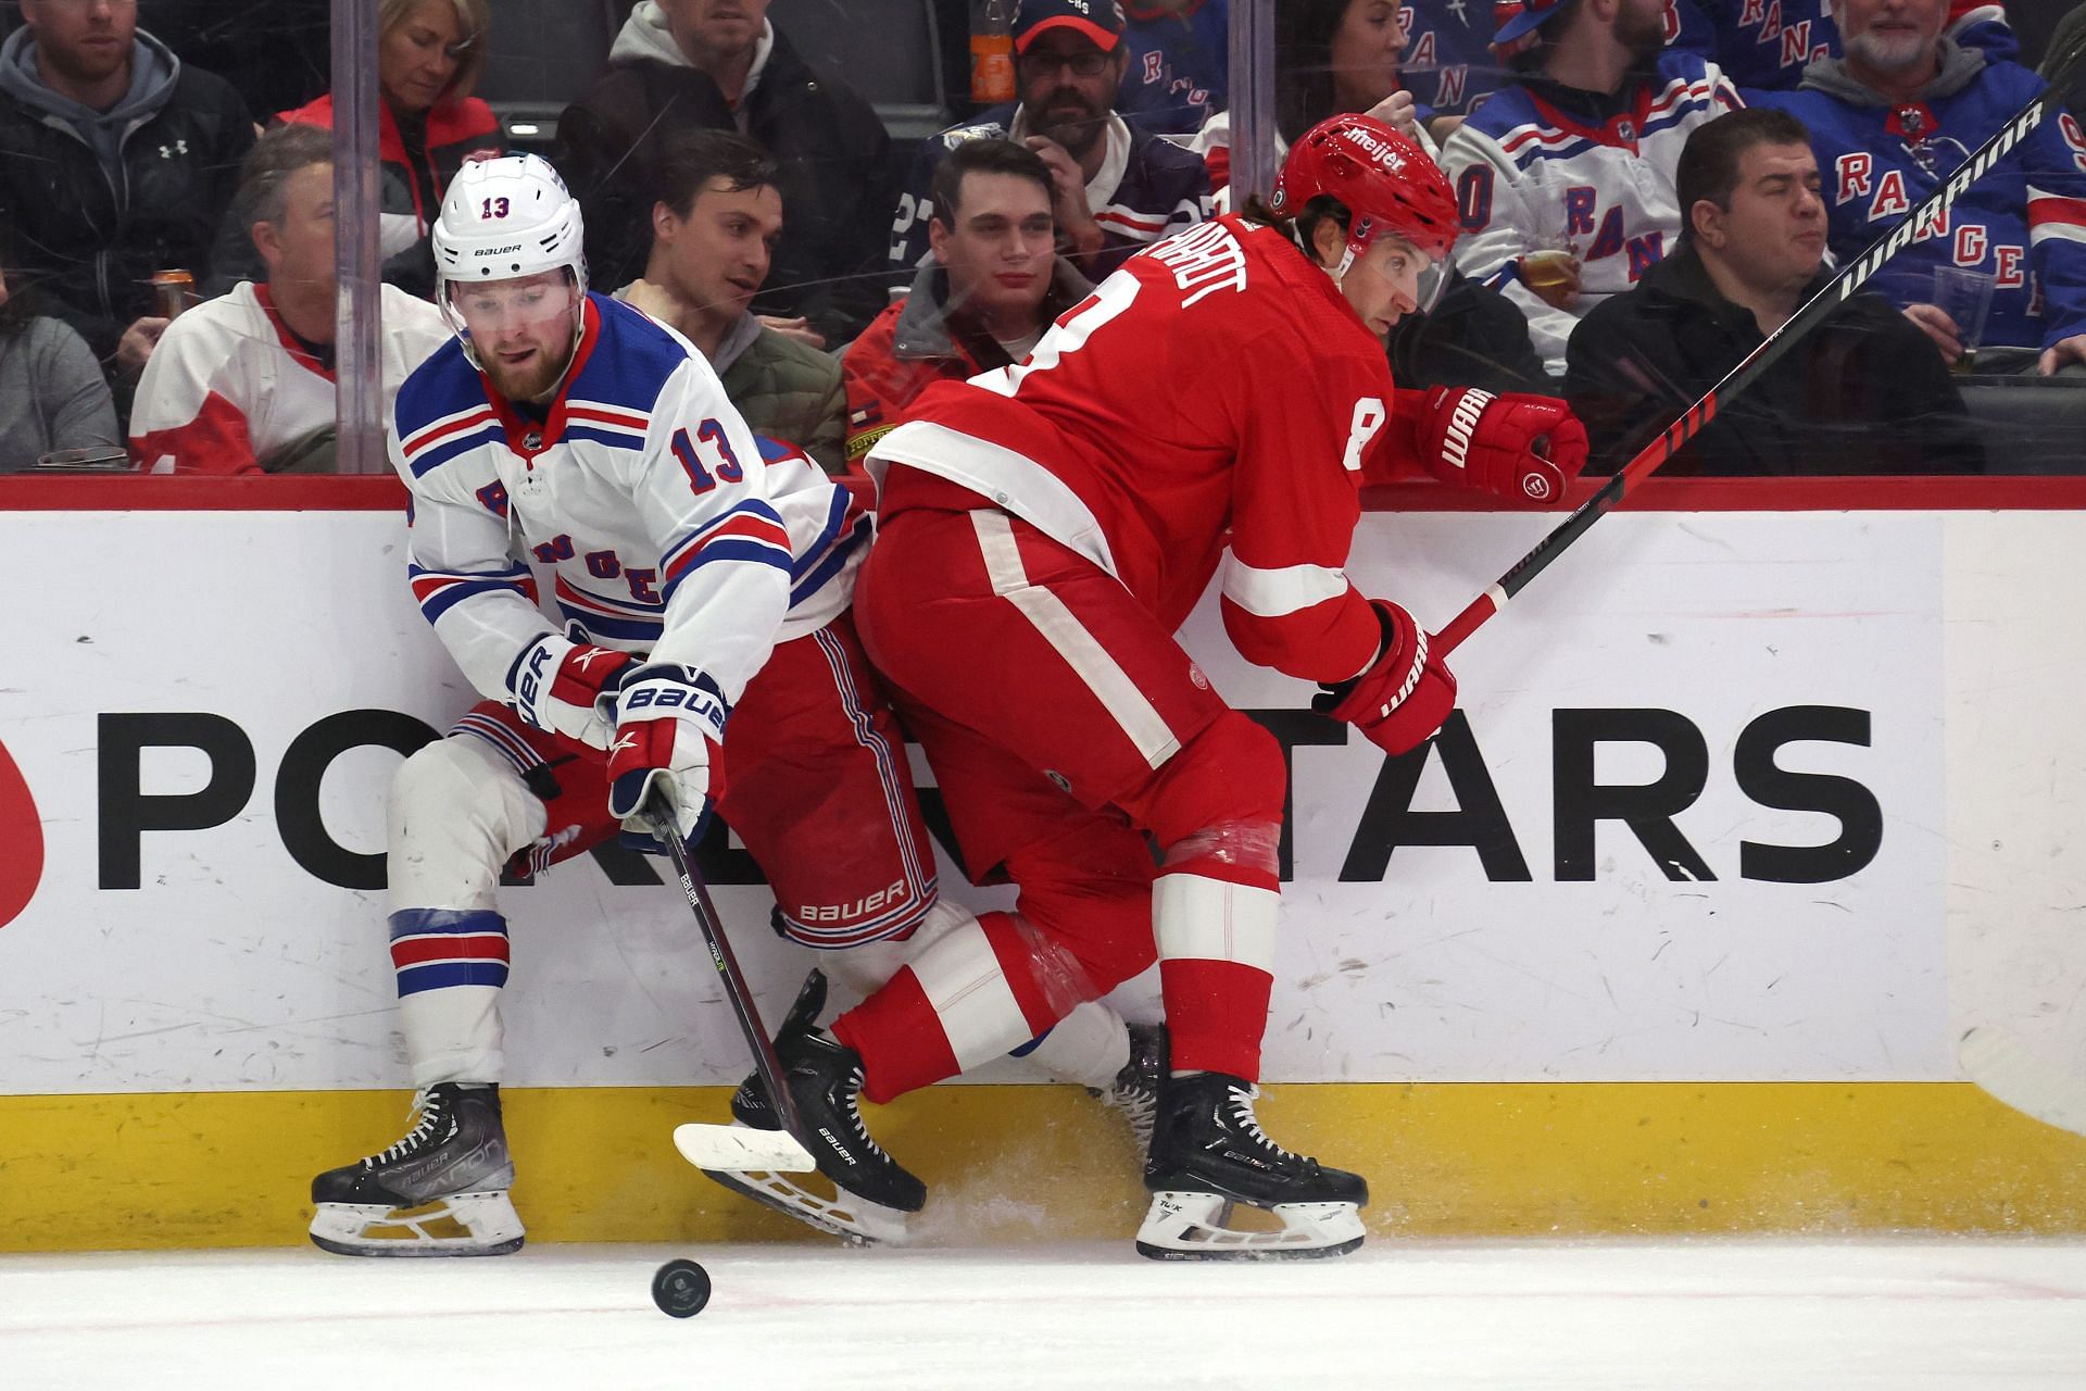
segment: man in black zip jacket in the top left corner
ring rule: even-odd
[[[127,386],[167,327],[152,275],[209,271],[252,117],[138,27],[138,0],[21,0],[21,17],[0,44],[0,221],[50,313]]]

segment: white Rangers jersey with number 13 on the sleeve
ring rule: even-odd
[[[755,444],[680,334],[601,294],[540,417],[453,338],[398,390],[388,442],[413,494],[413,596],[494,701],[565,626],[538,609],[532,561],[584,640],[693,665],[736,701],[774,642],[847,607],[870,532],[799,450]]]

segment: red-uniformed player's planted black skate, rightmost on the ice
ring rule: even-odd
[[[1160,1091],[1137,1253],[1154,1260],[1345,1255],[1362,1245],[1360,1174],[1323,1168],[1266,1137],[1252,1082],[1222,1072],[1168,1078]],[[1233,1203],[1264,1207],[1283,1230],[1227,1226]]]

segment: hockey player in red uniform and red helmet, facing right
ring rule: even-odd
[[[1174,642],[1222,569],[1239,651],[1318,682],[1387,753],[1456,682],[1398,605],[1343,574],[1373,450],[1393,469],[1554,498],[1585,461],[1562,402],[1400,392],[1379,336],[1456,238],[1433,163],[1368,117],[1291,150],[1272,202],[1131,259],[1026,363],[928,388],[870,450],[880,528],[857,590],[870,659],[926,747],[972,872],[1012,913],[949,932],[830,1032],[778,1036],[820,1168],[924,1189],[824,1139],[1160,963],[1172,1030],[1137,1249],[1331,1255],[1362,1241],[1360,1176],[1254,1118],[1277,945],[1283,757]],[[1229,548],[1229,559],[1227,559]],[[1145,836],[1162,863],[1154,868]],[[1279,1233],[1222,1226],[1231,1203]]]

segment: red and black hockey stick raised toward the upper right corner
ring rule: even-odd
[[[1965,188],[1982,179],[1992,165],[2013,150],[2013,146],[2021,144],[2021,140],[2026,140],[2028,133],[2042,123],[2042,117],[2059,104],[2061,90],[2082,56],[2086,56],[2086,38],[2063,54],[2057,71],[2051,75],[2051,86],[2044,88],[2036,100],[2015,113],[2015,117],[2007,121],[1990,140],[1978,146],[1969,158],[1965,158],[1963,165],[1959,165],[1957,171],[1942,181],[1940,188],[1921,198],[1919,206],[1907,213],[1905,221],[1875,238],[1867,250],[1825,282],[1817,294],[1804,300],[1802,309],[1790,315],[1781,327],[1740,359],[1738,367],[1723,373],[1723,377],[1708,388],[1700,400],[1681,411],[1679,419],[1667,425],[1656,440],[1638,450],[1638,455],[1625,463],[1621,471],[1617,471],[1615,478],[1600,488],[1600,492],[1581,503],[1571,517],[1558,523],[1554,532],[1535,542],[1533,551],[1514,561],[1512,569],[1500,576],[1491,588],[1473,599],[1462,613],[1450,619],[1448,628],[1444,628],[1433,640],[1435,653],[1448,657],[1462,646],[1464,638],[1477,632],[1479,626],[1494,613],[1504,609],[1506,601],[1527,588],[1529,580],[1544,574],[1550,561],[1579,540],[1602,513],[1621,503],[1633,486],[1673,459],[1673,455],[1679,453],[1688,440],[1696,438],[1702,428],[1717,417],[1721,402],[1731,400],[1742,390],[1758,382],[1761,373],[1781,361],[1781,357],[1794,348],[1800,338],[1823,323],[1842,300],[1861,290],[1861,286],[1873,277],[1886,261],[1905,250],[1917,236],[1919,227],[1934,221],[1938,213],[1946,211],[1957,198],[1963,196]],[[1685,217],[1685,209],[1681,215]]]

